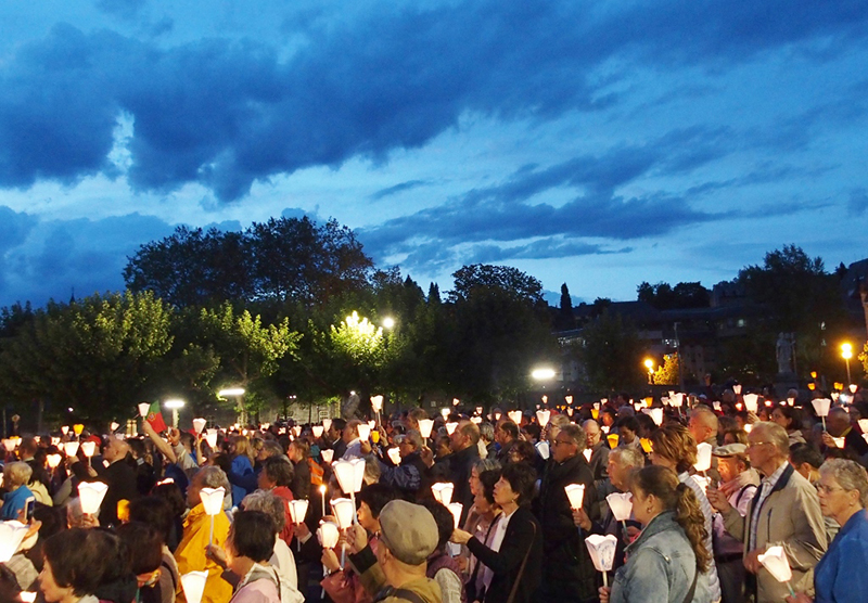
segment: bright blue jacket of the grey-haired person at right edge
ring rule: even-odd
[[[816,603],[864,602],[868,596],[868,513],[855,513],[814,568]]]

